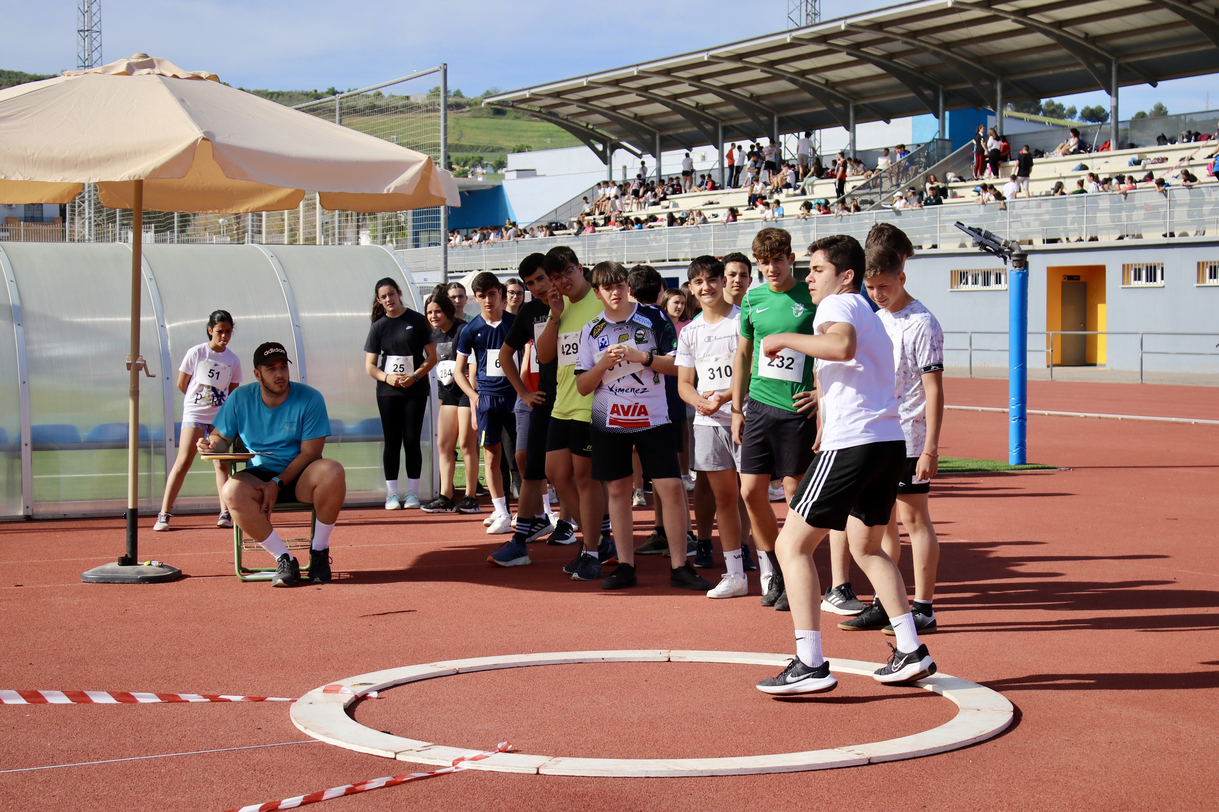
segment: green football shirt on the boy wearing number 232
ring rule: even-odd
[[[817,306],[801,281],[781,293],[769,285],[751,287],[741,299],[741,337],[753,341],[750,397],[777,409],[795,411],[791,398],[813,388],[817,362],[794,349],[775,358],[762,354],[762,338],[777,332],[813,334]]]

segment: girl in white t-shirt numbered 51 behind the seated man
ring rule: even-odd
[[[152,530],[169,530],[173,503],[187,480],[187,471],[195,461],[195,446],[212,430],[212,419],[221,410],[229,392],[241,383],[241,362],[228,348],[233,338],[233,317],[228,310],[216,310],[207,317],[207,341],[187,351],[178,368],[178,390],[185,396],[182,405],[182,437],[178,457],[165,482],[161,513]],[[221,515],[217,527],[232,527],[233,517],[224,506],[224,483],[228,482],[228,463],[212,460],[216,466],[216,493],[221,494]]]

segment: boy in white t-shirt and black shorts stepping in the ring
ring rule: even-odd
[[[837,685],[822,656],[820,586],[813,564],[813,551],[830,530],[846,530],[851,555],[894,618],[897,648],[873,677],[908,683],[936,670],[919,643],[902,575],[881,548],[906,467],[906,438],[894,396],[894,345],[859,295],[863,246],[855,237],[835,235],[814,242],[809,253],[814,334],[779,334],[762,342],[767,358],[795,349],[818,359],[822,410],[820,449],[791,498],[775,544],[796,627],[796,656],[780,674],[757,684],[767,694],[811,694]]]

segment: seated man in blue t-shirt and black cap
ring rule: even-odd
[[[330,419],[322,393],[288,380],[288,351],[274,341],[254,351],[257,383],[239,386],[216,414],[212,432],[199,441],[199,450],[217,454],[238,436],[256,454],[252,467],[236,472],[224,486],[224,504],[241,532],[275,559],[272,587],[291,587],[300,579],[300,564],[271,526],[277,502],[313,505],[317,522],[308,556],[313,583],[330,581],[330,531],[347,495],[343,465],[322,459]]]

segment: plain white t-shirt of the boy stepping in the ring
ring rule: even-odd
[[[825,332],[830,321],[855,327],[855,358],[817,360],[822,392],[822,450],[904,441],[894,396],[894,343],[880,317],[859,293],[834,293],[817,306],[813,329]]]

